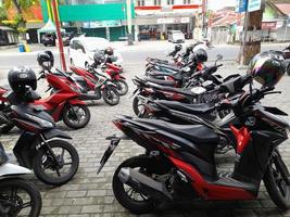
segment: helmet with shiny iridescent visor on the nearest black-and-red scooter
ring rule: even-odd
[[[286,73],[283,55],[277,51],[256,54],[248,66],[247,74],[263,87],[274,87]]]

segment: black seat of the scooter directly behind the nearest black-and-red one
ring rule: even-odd
[[[166,100],[155,100],[154,102],[162,104],[168,108],[177,110],[180,112],[199,115],[199,114],[210,114],[215,110],[214,104],[201,103],[201,104],[187,104],[176,101]]]

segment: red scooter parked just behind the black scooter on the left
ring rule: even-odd
[[[87,126],[90,120],[90,111],[83,100],[88,100],[89,95],[83,94],[64,75],[53,74],[51,71],[41,71],[40,78],[46,78],[49,82],[49,89],[53,88],[51,95],[45,99],[34,97],[31,103],[40,106],[48,114],[50,114],[54,122],[63,120],[66,126],[73,129],[79,129]],[[47,91],[48,91],[47,90]],[[7,92],[9,90],[0,89],[0,101],[8,103]],[[17,103],[17,102],[13,102]],[[9,105],[8,105],[9,106]],[[2,127],[2,132],[8,132],[14,127],[14,124],[8,122]]]

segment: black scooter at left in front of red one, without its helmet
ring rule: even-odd
[[[13,148],[18,164],[34,169],[37,178],[47,184],[68,182],[79,165],[76,149],[63,140],[72,138],[55,128],[53,117],[43,111],[42,105],[30,103],[38,99],[31,89],[27,89],[24,97],[13,91],[3,97],[11,103],[7,111],[9,120],[22,130]]]

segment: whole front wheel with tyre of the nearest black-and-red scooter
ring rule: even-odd
[[[270,159],[263,180],[269,197],[278,208],[286,210],[290,208],[290,184],[286,183],[286,179],[290,181],[290,174],[279,152],[277,150],[275,152],[276,156]]]

